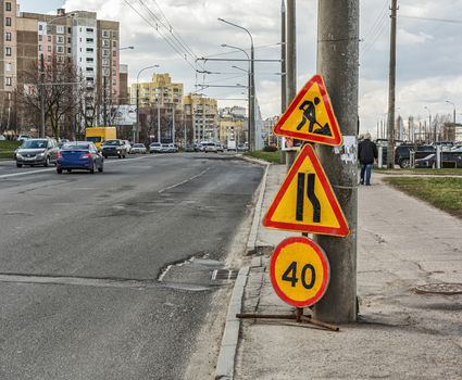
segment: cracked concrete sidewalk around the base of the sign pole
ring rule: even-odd
[[[261,226],[286,168],[269,167],[242,312],[287,314],[269,275],[271,246],[287,236]],[[240,321],[234,379],[462,379],[462,294],[419,294],[462,282],[462,221],[380,182],[359,188],[358,324],[340,332],[284,320]]]

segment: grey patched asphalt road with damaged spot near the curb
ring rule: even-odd
[[[223,261],[261,176],[222,154],[0,163],[0,379],[187,378],[220,287],[165,269]]]

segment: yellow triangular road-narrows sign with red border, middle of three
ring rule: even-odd
[[[350,232],[337,198],[310,144],[305,144],[263,218],[263,226],[346,237]]]

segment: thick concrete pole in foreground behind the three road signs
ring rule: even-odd
[[[346,142],[357,143],[359,81],[359,0],[319,1],[317,72],[323,75]],[[342,161],[335,149],[317,145],[321,163],[348,220],[346,238],[316,236],[330,264],[330,284],[314,305],[325,321],[357,319],[357,162]]]

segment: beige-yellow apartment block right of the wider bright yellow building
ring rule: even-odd
[[[185,118],[192,127],[192,141],[218,140],[216,99],[189,93],[183,97]]]

